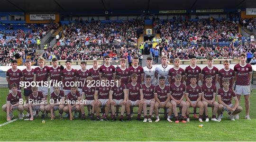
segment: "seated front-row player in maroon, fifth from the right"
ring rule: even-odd
[[[165,85],[165,77],[159,77],[159,85],[155,87],[154,90],[154,97],[155,97],[155,122],[160,121],[158,108],[169,108],[167,121],[172,122],[170,119],[171,114],[173,113],[173,106],[170,102],[170,89],[168,86]]]

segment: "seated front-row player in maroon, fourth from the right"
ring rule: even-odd
[[[176,74],[175,82],[169,86],[170,94],[171,94],[170,97],[172,99],[171,103],[173,105],[174,116],[176,117],[175,123],[179,123],[177,106],[182,107],[181,122],[186,123],[185,116],[186,116],[187,105],[186,105],[186,102],[183,101],[183,98],[185,97],[186,86],[183,83],[181,83],[181,80],[182,80],[182,75]]]

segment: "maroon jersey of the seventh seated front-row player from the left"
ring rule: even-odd
[[[121,83],[119,87],[117,87],[115,83],[115,85],[110,89],[113,91],[112,98],[117,100],[124,99],[124,89],[126,89],[124,83]]]

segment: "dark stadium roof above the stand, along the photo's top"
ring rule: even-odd
[[[255,8],[256,0],[0,0],[1,12]]]

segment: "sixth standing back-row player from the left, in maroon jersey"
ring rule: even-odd
[[[80,94],[82,94],[83,85],[87,83],[86,78],[88,76],[91,76],[91,71],[86,69],[86,65],[87,65],[87,62],[82,61],[80,63],[81,69],[76,72],[76,80],[79,81],[78,91],[80,92]]]

